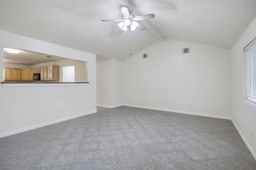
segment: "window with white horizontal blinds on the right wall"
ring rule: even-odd
[[[256,38],[244,51],[244,99],[256,106]]]

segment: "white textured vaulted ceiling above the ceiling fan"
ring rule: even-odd
[[[131,37],[118,33],[117,22],[101,20],[121,19],[120,4],[156,18]],[[156,31],[231,48],[255,16],[256,0],[0,0],[1,30],[121,61],[159,41]]]

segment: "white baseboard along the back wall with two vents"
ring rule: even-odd
[[[129,105],[129,104],[124,104],[123,106],[138,107],[138,108],[143,108],[143,109],[152,109],[152,110],[160,110],[160,111],[169,111],[169,112],[183,113],[183,114],[188,114],[188,115],[197,115],[197,116],[212,117],[212,118],[217,118],[217,119],[231,120],[230,117],[218,116],[218,115],[208,115],[208,114],[203,114],[203,113],[194,113],[194,112],[190,112],[190,111],[160,109],[160,108],[155,108],[155,107],[136,106],[136,105]]]

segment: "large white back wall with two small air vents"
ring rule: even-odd
[[[183,48],[190,53],[182,54]],[[143,59],[145,53],[148,58]],[[128,106],[230,117],[228,49],[166,39],[123,64]]]

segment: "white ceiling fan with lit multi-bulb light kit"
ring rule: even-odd
[[[120,21],[118,23],[118,26],[120,29],[118,30],[119,33],[122,33],[124,31],[132,31],[136,29],[137,27],[140,28],[142,31],[146,29],[143,25],[139,24],[137,21],[140,20],[148,20],[151,18],[155,18],[154,14],[146,14],[142,16],[134,16],[129,13],[128,8],[124,6],[120,6],[120,9],[122,11],[123,17],[122,19],[117,20],[101,20],[101,21]]]

